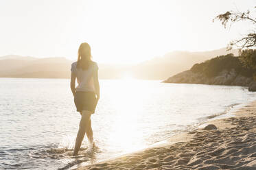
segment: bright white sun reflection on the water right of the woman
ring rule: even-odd
[[[108,136],[107,143],[123,153],[146,146],[142,138],[143,130],[139,126],[143,117],[143,97],[138,97],[138,94],[141,93],[142,86],[137,86],[136,81],[132,78],[121,80],[120,88],[115,89],[119,90],[119,93],[116,93],[111,102],[117,114],[110,125],[112,133]]]

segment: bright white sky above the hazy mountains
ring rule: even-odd
[[[136,63],[174,50],[226,47],[250,27],[212,19],[252,9],[255,0],[1,0],[0,56],[76,60],[81,42],[93,60]]]

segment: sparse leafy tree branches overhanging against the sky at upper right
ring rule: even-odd
[[[256,6],[255,6],[256,9]],[[224,14],[219,14],[216,16],[215,19],[213,19],[213,22],[215,20],[221,21],[222,25],[226,28],[226,25],[232,25],[232,23],[239,22],[239,21],[249,21],[253,23],[253,25],[256,25],[256,17],[251,15],[251,12],[247,10],[247,12],[239,12],[239,11],[227,11]],[[251,32],[246,34],[243,38],[240,40],[232,40],[229,42],[229,45],[227,47],[228,50],[231,50],[233,47],[237,47],[240,49],[248,49],[250,47],[256,47],[256,32],[255,27]]]

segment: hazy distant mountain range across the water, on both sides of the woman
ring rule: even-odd
[[[189,69],[203,62],[224,55],[225,49],[204,52],[173,51],[139,64],[99,64],[100,79],[118,79],[126,75],[138,79],[164,80],[170,75]],[[233,51],[237,54],[237,51]],[[34,58],[8,55],[0,57],[0,77],[69,78],[72,60],[67,58]]]

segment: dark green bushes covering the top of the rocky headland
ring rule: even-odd
[[[230,71],[231,69],[235,69],[237,73],[246,77],[253,76],[253,69],[244,67],[239,58],[235,57],[233,53],[218,56],[200,64],[194,64],[190,70],[194,73],[203,73],[207,77],[214,77],[223,70]]]

